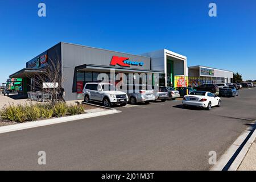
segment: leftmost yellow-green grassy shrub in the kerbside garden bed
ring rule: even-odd
[[[24,122],[26,120],[26,113],[22,105],[9,105],[3,107],[0,111],[2,119],[7,119],[14,122]]]

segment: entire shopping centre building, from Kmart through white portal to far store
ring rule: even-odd
[[[197,84],[200,82],[203,84],[204,77],[207,83],[209,83],[209,79],[214,81],[215,78],[220,82],[232,82],[233,78],[232,72],[220,69],[213,69],[213,76],[204,75],[204,67],[187,68],[187,57],[167,49],[133,55],[63,42],[27,61],[26,68],[13,73],[10,78],[23,79],[23,94],[36,91],[40,89],[34,83],[36,75],[45,73],[49,60],[61,65],[60,74],[63,81],[60,86],[65,90],[64,98],[67,101],[83,99],[81,92],[85,83],[102,81],[98,77],[100,73],[106,73],[110,79],[111,71],[115,72],[117,81],[121,80],[120,76],[117,76],[120,75],[118,73],[122,73],[121,75],[125,75],[127,79],[133,73],[134,82],[141,80],[141,75],[146,75],[147,84],[174,87],[188,86],[192,83],[192,79],[189,79],[190,75],[195,78],[193,82],[197,79]],[[232,73],[232,75],[228,73]],[[226,80],[226,78],[228,79]]]

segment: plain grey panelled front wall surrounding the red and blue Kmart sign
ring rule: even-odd
[[[62,67],[63,67],[63,88],[65,89],[65,100],[76,100],[76,93],[73,92],[72,86],[75,77],[75,67],[84,64],[110,66],[113,56],[129,57],[131,61],[143,62],[143,66],[131,65],[130,69],[150,69],[150,57],[130,55],[105,49],[80,46],[76,44],[61,43]],[[119,65],[116,65],[117,68]]]

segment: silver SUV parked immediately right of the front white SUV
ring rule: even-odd
[[[154,90],[151,85],[128,84],[121,86],[121,89],[128,95],[130,104],[148,103],[155,100]]]

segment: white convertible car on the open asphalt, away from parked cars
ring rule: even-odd
[[[182,104],[183,106],[197,106],[210,110],[213,106],[220,107],[221,99],[210,92],[194,91],[183,97]]]

